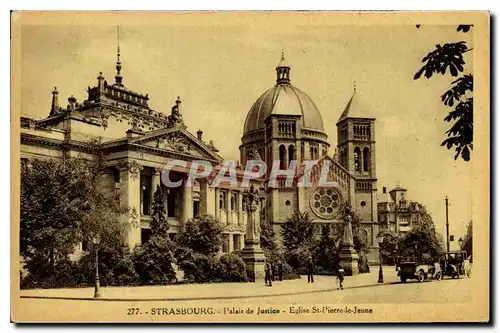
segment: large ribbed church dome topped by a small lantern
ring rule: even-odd
[[[283,56],[276,72],[276,85],[264,92],[250,108],[243,135],[264,130],[264,120],[271,114],[302,116],[302,127],[324,132],[323,118],[316,104],[305,92],[290,84],[290,67]]]

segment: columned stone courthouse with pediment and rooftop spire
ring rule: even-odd
[[[223,159],[213,141],[206,142],[201,130],[196,135],[188,131],[182,119],[180,98],[168,115],[153,110],[148,105],[148,94],[124,85],[121,69],[118,51],[114,83],[108,83],[99,73],[96,86],[87,90],[87,98],[78,103],[70,96],[66,107],[60,105],[59,92],[54,88],[47,118],[22,117],[22,165],[29,165],[32,158],[85,158],[88,142],[99,138],[99,147],[109,166],[102,186],[118,192],[120,200],[132,209],[132,216],[140,221],[130,230],[128,243],[131,247],[150,237],[152,198],[160,184],[165,193],[172,238],[187,220],[210,214],[224,226],[222,250],[242,249],[247,219],[243,209],[244,189],[227,183],[213,187],[209,185],[210,180],[201,179],[193,187],[167,188],[161,181],[162,170],[173,160],[188,163],[203,160],[214,167],[219,166]],[[185,179],[189,168],[189,164],[174,168],[170,178],[172,181]],[[241,170],[237,170],[237,176],[241,180]],[[260,187],[260,181],[254,183]],[[85,249],[85,243],[81,247]]]

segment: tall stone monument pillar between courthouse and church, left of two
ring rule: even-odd
[[[247,202],[247,230],[245,247],[241,257],[247,266],[248,280],[255,282],[264,278],[264,251],[260,247],[260,209],[256,191],[250,189]]]

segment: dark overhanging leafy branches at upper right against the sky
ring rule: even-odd
[[[417,26],[418,28],[419,26]],[[459,25],[457,31],[467,33],[471,25]],[[445,75],[447,70],[453,77],[463,73],[465,65],[464,54],[471,51],[464,41],[456,43],[446,43],[436,45],[436,49],[429,52],[422,62],[425,64],[413,77],[419,79],[422,74],[429,79],[434,74]],[[447,149],[455,147],[455,156],[461,156],[464,161],[470,160],[473,145],[473,75],[464,74],[452,81],[452,87],[441,95],[441,101],[447,107],[455,108],[449,111],[444,118],[446,122],[453,123],[451,128],[446,131],[447,138],[441,143]]]

